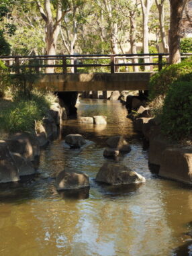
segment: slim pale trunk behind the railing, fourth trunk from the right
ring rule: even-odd
[[[137,54],[136,46],[136,12],[130,11],[130,44],[131,44],[131,53]],[[132,63],[138,63],[138,58],[133,58]],[[134,72],[138,72],[139,67],[134,66]]]

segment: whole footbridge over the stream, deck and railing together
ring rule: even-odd
[[[34,77],[35,86],[50,91],[147,90],[150,77],[169,64],[168,58],[169,54],[0,56],[13,75],[29,81]]]

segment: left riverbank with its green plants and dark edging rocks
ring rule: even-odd
[[[56,101],[50,93],[34,93],[30,99],[15,102],[1,99],[0,183],[36,173],[40,148],[58,137],[66,116]]]

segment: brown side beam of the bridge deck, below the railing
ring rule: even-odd
[[[38,75],[35,85],[50,91],[147,90],[154,72]]]

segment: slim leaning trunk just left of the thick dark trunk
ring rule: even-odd
[[[160,0],[160,3],[158,3],[158,0],[155,0],[156,6],[158,8],[158,19],[159,19],[159,26],[160,26],[160,37],[162,40],[162,48],[164,53],[169,52],[169,45],[166,43],[166,36],[165,36],[165,30],[164,30],[164,1]]]

